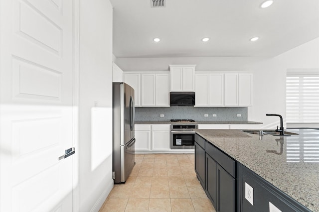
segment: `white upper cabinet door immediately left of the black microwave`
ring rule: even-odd
[[[156,74],[155,105],[169,106],[169,74]]]

